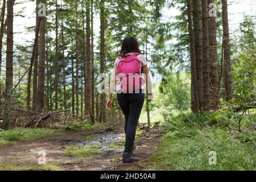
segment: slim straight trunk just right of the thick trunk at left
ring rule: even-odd
[[[55,12],[55,110],[58,110],[59,98],[58,98],[58,89],[59,89],[59,40],[58,40],[58,4],[55,3],[56,12]]]

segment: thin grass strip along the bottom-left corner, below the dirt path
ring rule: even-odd
[[[61,171],[62,167],[53,164],[43,164],[35,166],[19,165],[19,164],[0,164],[0,171],[26,171],[26,170],[48,170],[48,171]]]

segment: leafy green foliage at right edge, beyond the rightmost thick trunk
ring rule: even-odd
[[[234,48],[236,56],[233,61],[233,88],[234,101],[238,105],[250,104],[256,97],[255,70],[256,70],[256,24],[249,17],[245,16],[240,24],[240,40]]]

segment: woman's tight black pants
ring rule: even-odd
[[[117,101],[125,115],[125,153],[131,152],[134,146],[139,115],[144,104],[144,90],[139,93],[118,93]]]

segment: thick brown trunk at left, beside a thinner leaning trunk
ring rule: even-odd
[[[46,17],[42,16],[41,18],[42,23],[40,24],[38,93],[36,105],[39,111],[42,111],[44,107],[44,79],[46,76]]]

